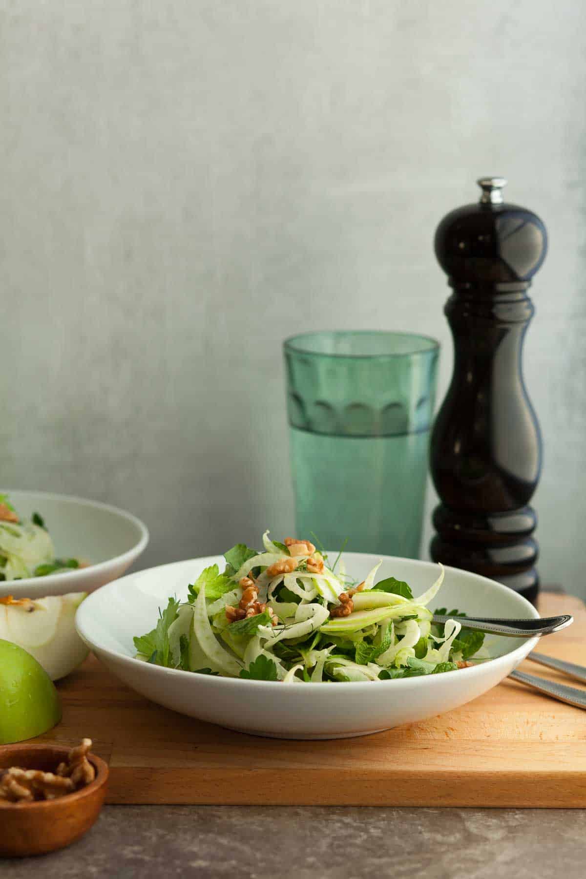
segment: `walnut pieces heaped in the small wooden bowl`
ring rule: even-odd
[[[20,766],[5,769],[0,773],[0,799],[10,803],[55,800],[90,784],[96,777],[87,756],[90,747],[91,739],[83,738],[81,745],[71,749],[67,761],[60,763],[54,773]]]

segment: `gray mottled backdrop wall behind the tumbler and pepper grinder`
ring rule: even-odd
[[[550,231],[541,571],[584,594],[585,9],[2,0],[0,481],[136,512],[145,564],[292,531],[281,339],[437,336],[443,395],[433,231],[500,173]]]

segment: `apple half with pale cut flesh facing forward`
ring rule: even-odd
[[[52,680],[64,678],[88,655],[77,635],[77,607],[85,592],[0,603],[0,638],[24,647]]]

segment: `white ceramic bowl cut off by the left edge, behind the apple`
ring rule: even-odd
[[[5,491],[20,515],[29,518],[40,512],[58,557],[87,559],[90,566],[66,574],[0,582],[0,596],[39,599],[93,592],[120,577],[147,546],[148,530],[141,519],[115,506],[44,491]]]

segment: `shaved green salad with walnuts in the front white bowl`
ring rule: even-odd
[[[444,580],[414,598],[394,577],[361,583],[310,541],[263,535],[237,544],[226,567],[203,570],[185,602],[170,598],[156,628],[134,638],[137,658],[185,672],[286,683],[371,681],[452,672],[471,665],[484,636],[454,610],[445,626],[428,609]],[[445,614],[445,608],[438,609]]]

